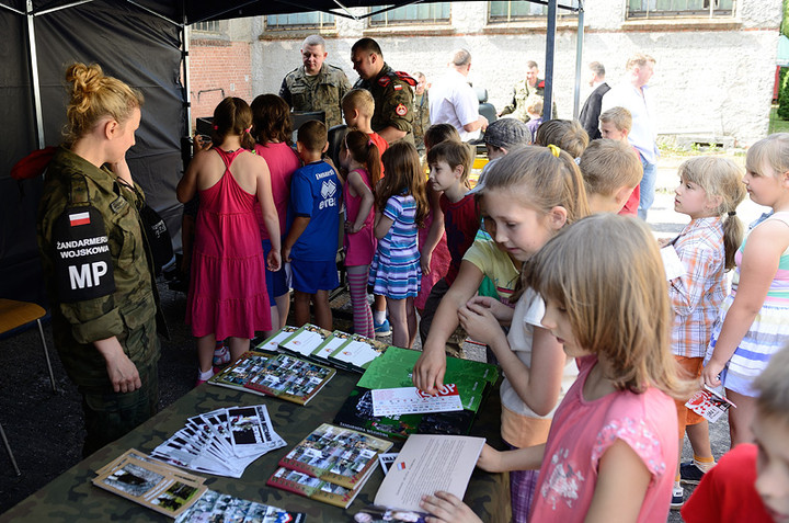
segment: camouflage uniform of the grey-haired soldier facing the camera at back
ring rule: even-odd
[[[304,66],[285,75],[279,95],[294,111],[324,111],[328,128],[343,123],[342,98],[351,90],[351,82],[339,67],[323,64],[315,77],[307,76]]]

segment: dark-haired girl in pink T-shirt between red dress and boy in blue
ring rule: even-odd
[[[285,237],[285,217],[290,200],[290,178],[296,169],[301,167],[301,160],[291,147],[293,124],[290,123],[290,107],[287,102],[276,94],[261,94],[252,101],[252,136],[258,141],[254,151],[268,164],[272,180],[272,196],[279,217],[279,238]],[[255,207],[258,225],[260,226],[263,252],[268,255],[272,240],[265,228],[263,214]],[[285,327],[290,310],[290,288],[285,277],[285,269],[272,272],[266,268],[266,288],[271,304],[272,331]],[[266,336],[272,334],[267,331]]]

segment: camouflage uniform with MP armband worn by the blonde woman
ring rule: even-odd
[[[38,248],[55,345],[82,394],[84,455],[155,414],[159,401],[157,325],[165,327],[140,226],[142,203],[139,189],[62,147],[47,168]],[[136,391],[113,391],[93,345],[112,337],[137,366],[142,387]]]

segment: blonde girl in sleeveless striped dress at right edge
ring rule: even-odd
[[[723,385],[736,405],[729,410],[731,446],[754,441],[754,379],[789,340],[789,133],[748,150],[743,182],[755,203],[773,212],[751,226],[736,252],[730,295],[721,306],[701,374]]]

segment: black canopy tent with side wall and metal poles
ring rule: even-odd
[[[43,180],[16,182],[11,167],[34,149],[61,141],[66,95],[62,75],[73,61],[99,62],[146,96],[137,144],[128,155],[135,180],[180,230],[175,185],[182,173],[181,137],[188,134],[188,29],[195,22],[277,13],[330,11],[359,18],[357,7],[381,10],[418,3],[398,0],[0,0],[0,296],[45,304],[35,242]],[[546,107],[551,80],[557,10],[579,14],[575,103],[578,114],[583,0],[535,0],[548,5]],[[574,3],[575,7],[572,7]],[[373,10],[379,12],[380,10]],[[368,13],[366,15],[369,15]],[[183,72],[183,73],[182,73]],[[548,109],[549,110],[549,109]]]

